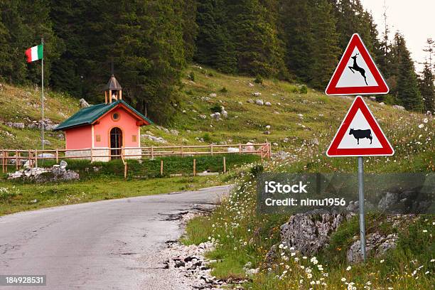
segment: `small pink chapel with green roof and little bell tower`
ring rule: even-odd
[[[140,159],[140,128],[152,122],[122,100],[122,87],[114,75],[104,87],[104,99],[104,104],[80,109],[55,128],[65,132],[65,155],[84,159],[95,156],[92,161],[109,161],[122,155]]]

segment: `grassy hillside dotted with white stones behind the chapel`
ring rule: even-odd
[[[254,96],[254,93],[261,95]],[[212,94],[212,95],[210,95]],[[213,94],[216,96],[213,97]],[[41,93],[29,87],[3,85],[0,90],[0,121],[23,122],[26,129],[14,129],[0,124],[0,148],[38,148],[39,130],[29,129],[28,124],[40,118]],[[249,103],[263,100],[271,105]],[[191,65],[185,71],[180,96],[179,114],[168,128],[142,127],[142,134],[161,136],[166,144],[238,144],[248,141],[270,141],[273,151],[296,153],[311,144],[326,148],[330,136],[348,110],[349,97],[326,97],[323,92],[299,84],[279,80],[254,82],[252,77],[231,76],[215,70]],[[367,101],[387,136],[394,138],[395,127],[418,126],[424,116],[409,114]],[[79,109],[78,100],[56,92],[46,94],[46,117],[53,123],[63,121]],[[214,110],[225,107],[228,117],[215,121],[210,117]],[[205,119],[200,117],[205,116]],[[399,120],[389,122],[390,120]],[[268,128],[267,126],[270,126]],[[409,127],[409,129],[415,129]],[[168,129],[176,129],[176,132]],[[269,131],[270,134],[264,134]],[[325,138],[327,136],[328,138]],[[47,148],[63,148],[59,132],[48,131]],[[399,138],[399,136],[398,136]],[[162,145],[142,137],[142,144]]]

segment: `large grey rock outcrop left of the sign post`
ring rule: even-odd
[[[281,225],[281,241],[302,254],[315,254],[328,245],[332,232],[345,220],[345,216],[324,209],[292,215]]]

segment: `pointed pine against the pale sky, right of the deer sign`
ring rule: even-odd
[[[406,109],[421,112],[423,100],[419,92],[417,74],[406,43],[402,39],[399,51],[399,68],[397,77],[397,100]]]

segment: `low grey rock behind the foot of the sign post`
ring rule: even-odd
[[[356,237],[358,239],[358,237]],[[380,235],[379,232],[373,232],[366,236],[365,251],[368,255],[374,255],[380,257],[385,254],[389,249],[394,249],[397,245],[397,235]],[[360,240],[356,240],[349,247],[346,252],[346,259],[350,263],[357,263],[362,261],[361,257]]]

